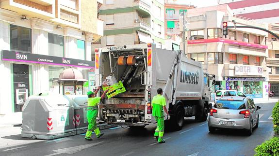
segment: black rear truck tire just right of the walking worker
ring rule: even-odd
[[[177,106],[175,113],[171,115],[170,122],[174,130],[181,130],[184,124],[184,112],[182,106]]]

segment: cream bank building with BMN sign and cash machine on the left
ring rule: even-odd
[[[0,120],[21,123],[24,101],[59,93],[66,68],[87,79],[91,43],[103,35],[102,0],[0,0]],[[75,92],[75,91],[73,91]],[[15,121],[12,121],[15,120]]]

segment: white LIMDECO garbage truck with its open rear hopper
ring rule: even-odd
[[[184,117],[207,119],[215,76],[204,73],[200,62],[181,51],[159,49],[154,43],[96,48],[95,65],[96,87],[104,81],[125,87],[125,92],[99,103],[99,118],[108,124],[155,123],[151,101],[158,88],[163,89],[171,128],[181,129]]]

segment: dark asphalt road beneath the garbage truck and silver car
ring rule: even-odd
[[[208,131],[207,121],[185,118],[180,131],[166,130],[166,143],[153,140],[155,125],[146,128],[111,128],[93,141],[84,141],[84,134],[50,141],[0,149],[0,156],[253,156],[254,148],[272,135],[272,108],[275,103],[257,104],[259,128],[251,136],[241,130]],[[13,137],[15,139],[15,137]],[[17,138],[20,140],[20,136]]]

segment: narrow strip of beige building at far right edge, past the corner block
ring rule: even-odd
[[[268,24],[268,30],[279,35],[279,24]],[[269,90],[274,91],[275,96],[279,96],[279,40],[268,34],[266,45],[268,46],[266,66],[269,73]]]

